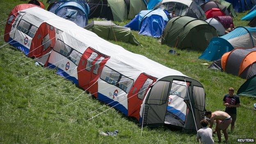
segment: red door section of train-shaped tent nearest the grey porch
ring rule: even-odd
[[[155,77],[147,75],[146,73],[141,73],[139,75],[127,96],[128,116],[139,119],[140,105],[147,93],[148,87],[150,87],[155,81]]]

